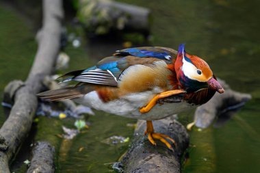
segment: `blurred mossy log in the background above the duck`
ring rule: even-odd
[[[150,10],[116,1],[81,0],[78,16],[86,29],[96,35],[124,30],[148,36],[151,29]]]

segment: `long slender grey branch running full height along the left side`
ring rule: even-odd
[[[8,165],[31,129],[38,104],[35,94],[42,88],[42,79],[51,75],[60,50],[62,1],[44,0],[43,13],[43,26],[38,34],[38,51],[34,64],[25,84],[16,90],[10,115],[0,129],[3,139],[1,144],[5,146],[0,148],[0,172],[10,172]]]

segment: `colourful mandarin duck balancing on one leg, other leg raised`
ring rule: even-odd
[[[73,99],[81,105],[110,114],[146,120],[148,140],[159,139],[172,149],[174,139],[155,133],[152,120],[202,105],[224,89],[213,76],[207,62],[185,52],[166,47],[138,47],[116,51],[96,66],[68,72],[62,82],[77,81],[73,87],[38,94],[50,101]],[[178,101],[159,101],[179,96]]]

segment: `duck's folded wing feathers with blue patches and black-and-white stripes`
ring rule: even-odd
[[[172,57],[176,52],[172,49],[161,47],[139,47],[123,49],[116,51],[114,56],[105,57],[96,66],[82,70],[81,72],[68,73],[70,76],[64,81],[83,81],[87,83],[96,83],[100,85],[113,85],[116,86],[118,79],[122,72],[129,66],[135,64],[147,64],[157,61],[156,59],[139,61],[139,58],[157,58],[164,60],[168,63],[172,62]]]

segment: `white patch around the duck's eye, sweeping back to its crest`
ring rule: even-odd
[[[183,53],[183,66],[181,67],[181,70],[183,70],[183,73],[186,77],[196,81],[205,82],[201,80],[201,77],[203,76],[201,70],[196,68],[196,66],[194,66],[192,63],[187,62],[184,57],[184,53]],[[200,75],[198,75],[197,70],[200,70]]]

